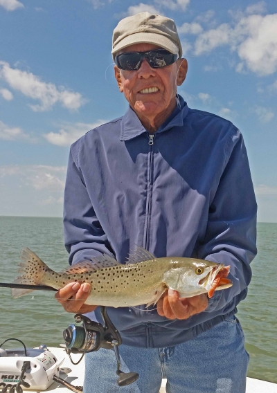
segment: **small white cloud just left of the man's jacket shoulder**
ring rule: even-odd
[[[79,139],[90,129],[96,128],[105,123],[105,120],[98,120],[94,123],[76,122],[73,124],[65,123],[59,132],[49,132],[44,134],[44,138],[49,143],[57,146],[70,146],[75,140]]]

